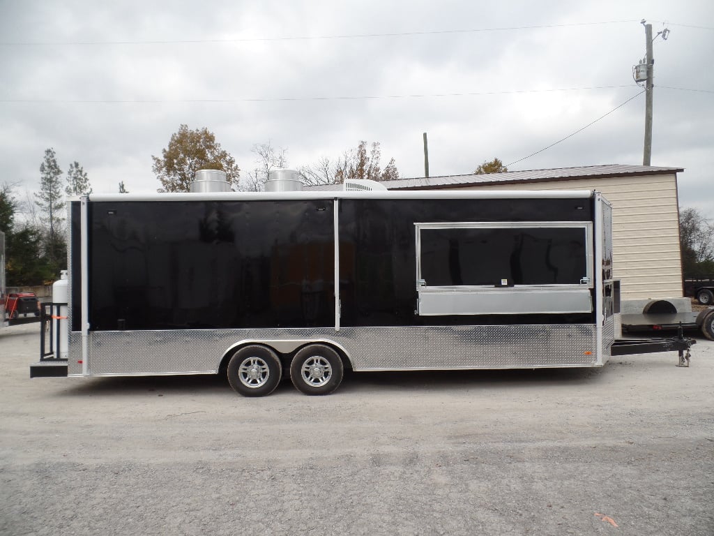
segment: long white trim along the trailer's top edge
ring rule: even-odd
[[[288,199],[588,199],[592,190],[411,190],[386,192],[213,192],[90,194],[90,202],[284,201]]]

